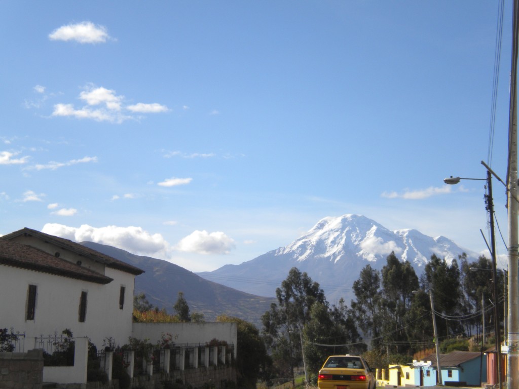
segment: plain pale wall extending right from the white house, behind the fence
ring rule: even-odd
[[[236,358],[238,325],[236,323],[133,323],[132,336],[156,344],[161,334],[171,334],[175,344],[205,344],[212,339],[234,344]],[[123,344],[123,343],[121,343]]]

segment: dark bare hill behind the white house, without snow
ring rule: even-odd
[[[208,322],[227,314],[261,328],[261,315],[276,301],[205,280],[165,260],[134,255],[99,243],[81,244],[144,270],[145,273],[135,277],[135,294],[144,293],[150,303],[160,309],[166,308],[169,313],[173,313],[173,305],[182,291],[190,312],[203,313]]]

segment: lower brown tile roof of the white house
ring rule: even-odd
[[[38,248],[5,239],[0,239],[0,265],[61,275],[97,284],[108,284],[113,281],[110,277],[56,258]]]

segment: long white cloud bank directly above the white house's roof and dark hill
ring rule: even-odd
[[[161,234],[152,234],[141,227],[68,227],[61,224],[46,224],[43,232],[76,242],[90,241],[121,248],[137,255],[167,257],[170,250],[168,242]]]

